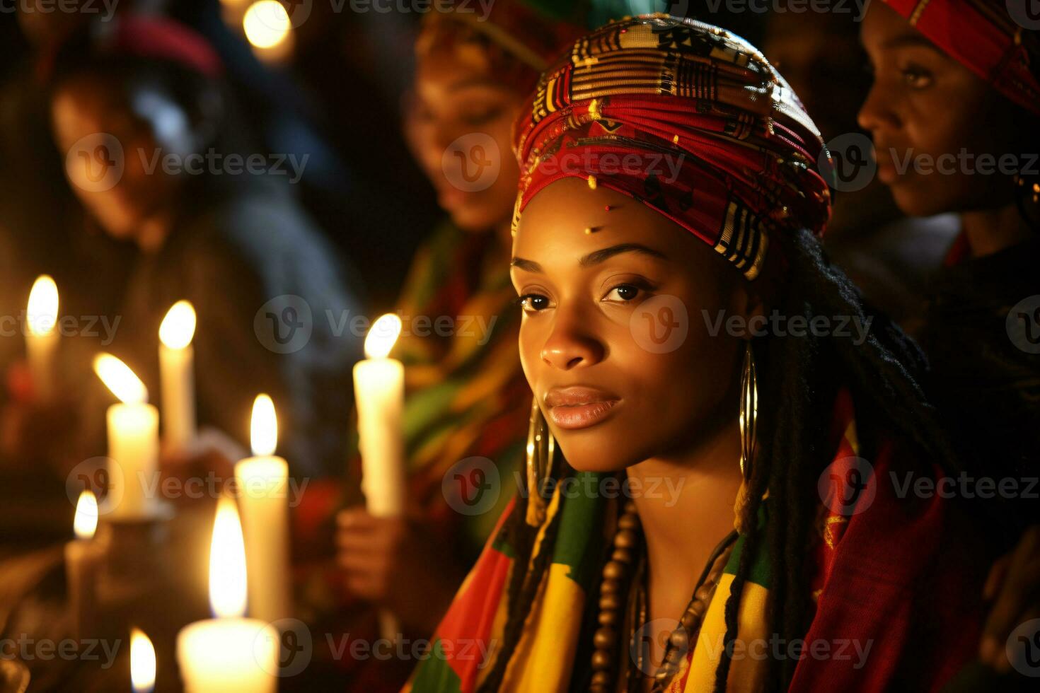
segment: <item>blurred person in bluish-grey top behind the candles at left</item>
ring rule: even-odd
[[[341,472],[360,339],[334,335],[327,312],[341,316],[358,304],[335,255],[288,190],[291,166],[283,164],[279,178],[272,159],[256,154],[208,44],[168,20],[122,16],[83,27],[43,72],[54,144],[74,194],[105,234],[135,250],[111,344],[70,345],[79,352],[71,358],[78,382],[66,392],[84,412],[86,438],[61,461],[104,450],[100,422],[90,416],[104,404],[83,395],[110,399],[90,371],[94,353],[122,357],[158,393],[159,324],[171,305],[187,299],[198,314],[199,423],[220,433],[204,449],[165,450],[167,471],[191,474],[196,464],[222,460],[228,472],[248,445],[253,398],[266,392],[292,473]],[[236,169],[228,163],[234,157],[262,164]],[[282,349],[275,337],[295,329],[286,309],[304,313],[295,297],[310,310],[312,334],[306,344]],[[264,308],[274,324],[258,316]],[[31,450],[34,414],[18,405],[5,412],[10,456]],[[59,429],[72,423],[54,421]]]

